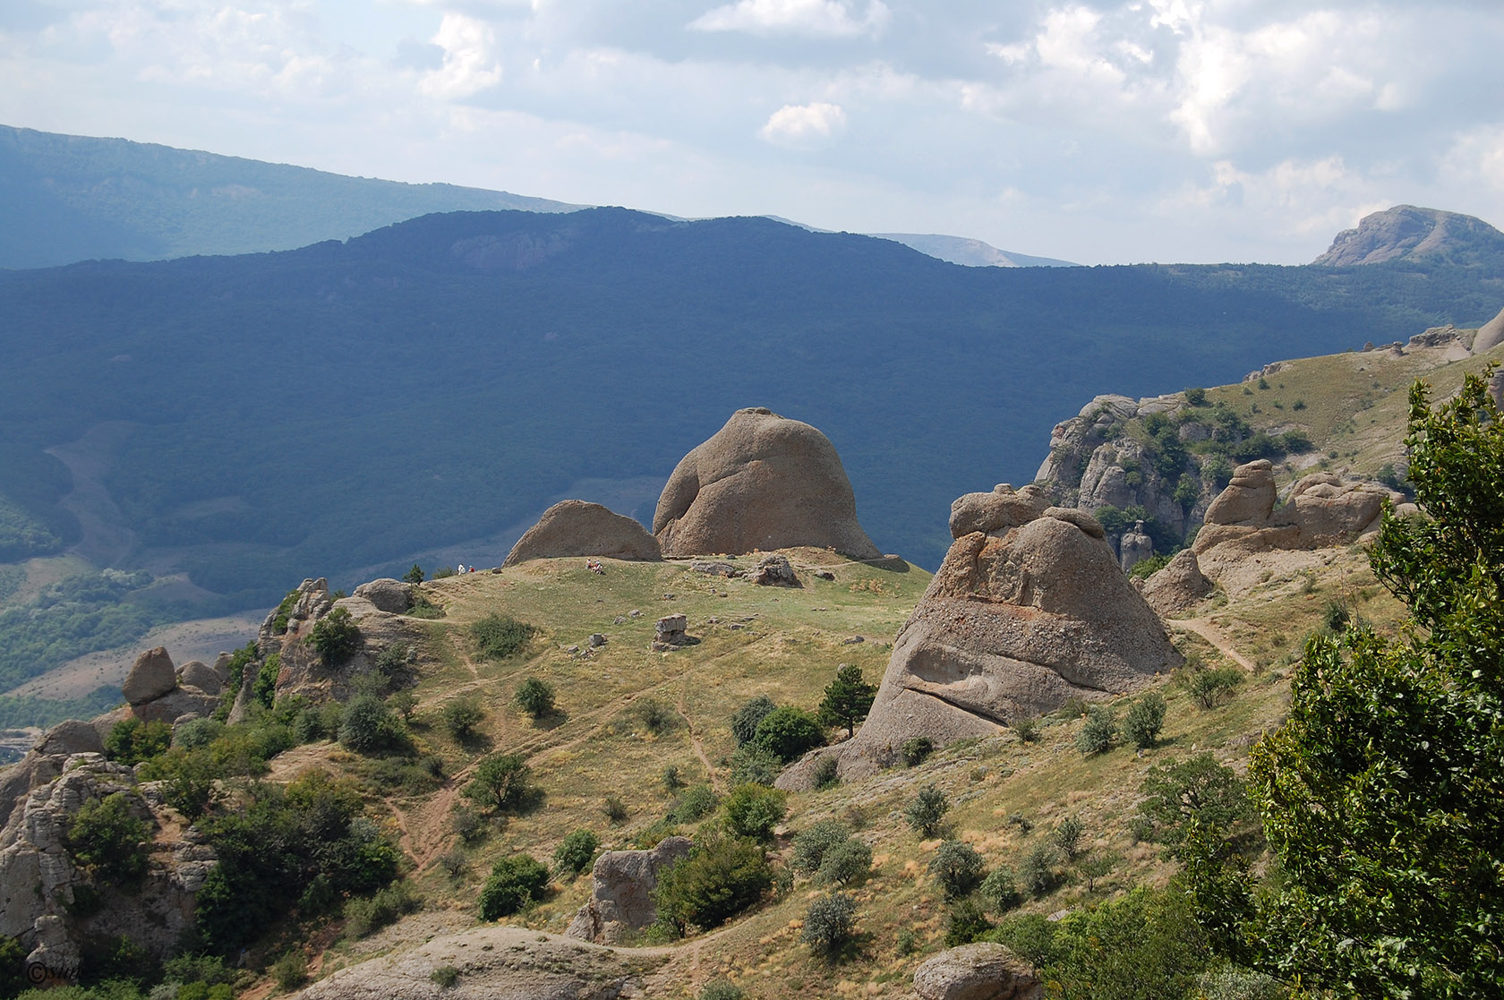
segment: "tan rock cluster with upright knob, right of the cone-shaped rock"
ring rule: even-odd
[[[1313,472],[1275,507],[1274,466],[1260,459],[1233,469],[1227,489],[1206,508],[1206,525],[1191,549],[1202,570],[1217,579],[1223,567],[1259,552],[1352,541],[1379,526],[1385,499],[1396,507],[1405,502],[1378,483]]]

